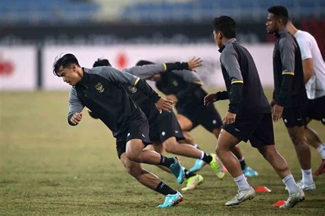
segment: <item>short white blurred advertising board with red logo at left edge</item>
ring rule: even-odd
[[[0,91],[32,91],[36,87],[36,47],[0,46]]]

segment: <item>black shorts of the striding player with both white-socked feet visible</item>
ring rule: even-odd
[[[274,145],[271,113],[237,116],[234,123],[222,128],[245,143],[249,140],[252,147]]]

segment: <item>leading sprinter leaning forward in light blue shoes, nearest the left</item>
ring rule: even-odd
[[[161,64],[160,67],[168,65]],[[93,110],[116,138],[117,154],[128,173],[149,189],[166,195],[164,204],[158,205],[158,208],[167,208],[182,202],[182,194],[141,167],[141,163],[163,165],[176,176],[178,184],[182,184],[184,180],[184,171],[176,158],[154,151],[143,151],[151,143],[148,121],[122,85],[138,88],[155,103],[158,110],[171,111],[172,101],[159,97],[139,77],[130,73],[121,73],[112,67],[80,67],[77,58],[70,53],[56,59],[53,73],[72,86],[69,95],[69,125],[78,125],[82,121],[84,106]]]

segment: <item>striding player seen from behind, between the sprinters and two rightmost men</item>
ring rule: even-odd
[[[207,95],[204,104],[229,99],[228,112],[219,135],[216,152],[238,186],[238,193],[226,206],[251,200],[254,189],[248,184],[232,147],[240,141],[256,147],[272,165],[282,182],[289,189],[287,202],[281,208],[291,208],[304,200],[304,191],[296,184],[287,162],[274,147],[272,115],[254,60],[245,47],[236,41],[236,23],[229,16],[220,16],[213,21],[215,43],[221,53],[222,75],[227,91]]]

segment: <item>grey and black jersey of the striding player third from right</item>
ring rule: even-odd
[[[241,101],[236,101],[239,102],[239,115],[270,113],[271,109],[250,52],[239,45],[235,38],[228,40],[219,51],[222,75],[224,75],[230,104],[237,100],[234,99],[236,95],[232,95],[232,85],[243,84]]]

